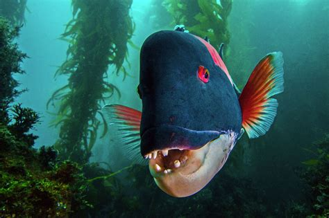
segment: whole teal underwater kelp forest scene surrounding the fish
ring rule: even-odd
[[[0,217],[329,217],[329,1],[0,0]],[[103,118],[142,102],[139,55],[184,24],[243,89],[282,51],[285,91],[198,192],[174,198]]]

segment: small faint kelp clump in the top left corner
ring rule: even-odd
[[[27,0],[0,0],[0,15],[6,17],[12,26],[22,26],[25,23]]]

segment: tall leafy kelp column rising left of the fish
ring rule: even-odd
[[[60,102],[58,119],[60,139],[56,148],[63,159],[87,163],[96,142],[97,130],[107,124],[99,109],[115,93],[115,85],[107,82],[112,73],[128,75],[123,66],[128,55],[127,43],[134,25],[129,16],[131,0],[72,0],[73,19],[60,39],[69,42],[67,60],[56,75],[69,75],[68,84],[53,93],[47,106]],[[55,104],[56,105],[56,104]]]

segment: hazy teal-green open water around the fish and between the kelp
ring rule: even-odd
[[[109,19],[110,28],[100,33],[119,34],[118,39],[126,37],[126,31],[115,31],[124,15],[130,17],[135,26],[133,35],[128,40],[131,43],[125,42],[128,55],[122,62],[128,75],[125,76],[122,71],[117,73],[115,64],[104,65],[108,72],[104,81],[117,87],[120,95],[114,91],[113,96],[100,101],[99,106],[114,103],[141,110],[142,102],[136,93],[139,84],[140,47],[151,33],[174,28],[175,19],[168,11],[168,3],[175,1],[134,0],[130,8],[118,6],[120,1],[97,2],[104,4],[103,7],[110,4],[107,5],[108,8],[117,8],[113,10],[116,12],[126,11],[129,16],[125,12],[115,14],[112,11],[106,13],[108,16],[94,20],[87,17],[83,22],[91,23],[85,35],[97,28],[97,21]],[[74,8],[69,0],[28,0],[26,6],[28,11],[24,15],[25,22],[16,41],[19,49],[27,53],[29,58],[22,62],[22,69],[26,74],[15,75],[15,79],[20,83],[18,89],[28,91],[15,98],[14,103],[21,102],[24,107],[31,107],[40,113],[41,122],[31,129],[33,134],[39,136],[34,145],[39,148],[42,145],[56,144],[63,131],[62,123],[51,125],[54,120],[60,119],[56,116],[60,100],[51,102],[49,107],[47,102],[54,91],[71,81],[69,74],[55,78],[54,75],[67,60],[69,43],[59,38],[65,33],[65,25],[72,19]],[[190,16],[195,12],[192,10],[185,13]],[[119,16],[113,18],[115,15]],[[92,16],[97,17],[97,13],[90,15]],[[272,51],[283,53],[285,91],[276,96],[279,102],[278,113],[269,132],[256,139],[248,139],[244,134],[219,174],[192,197],[169,197],[155,185],[148,167],[133,165],[108,177],[110,179],[96,180],[88,186],[84,192],[85,199],[94,208],[80,208],[70,212],[70,216],[328,217],[329,1],[235,0],[227,17],[226,28],[229,42],[226,45],[224,62],[240,89],[264,55]],[[96,44],[94,42],[94,45],[89,44],[86,48],[92,50],[93,47],[97,48]],[[101,55],[103,53],[93,61],[101,60]],[[90,69],[93,70],[96,71],[96,66]],[[87,84],[86,87],[90,86],[91,84]],[[76,89],[79,89],[79,84],[76,84]],[[88,97],[84,96],[82,99],[85,98]],[[80,101],[81,105],[83,101]],[[80,102],[75,103],[79,105]],[[92,113],[92,116],[102,121],[98,113]],[[81,153],[75,157],[65,156],[65,159],[81,161],[78,163],[80,165],[99,163],[105,170],[102,173],[100,168],[97,168],[97,172],[85,170],[83,174],[87,179],[117,172],[131,165],[128,154],[118,149],[120,140],[115,133],[108,129],[106,135],[100,138],[103,125],[97,127],[94,132],[98,135],[89,154],[85,154],[85,147],[81,145]],[[91,138],[87,134],[87,140]],[[321,140],[325,142],[319,147]],[[60,152],[64,149],[56,149],[59,150],[60,158]],[[83,160],[78,158],[83,155],[87,157]],[[317,161],[308,161],[310,159]]]

